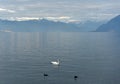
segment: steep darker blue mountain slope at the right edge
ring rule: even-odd
[[[97,32],[120,32],[120,15],[101,25]]]

